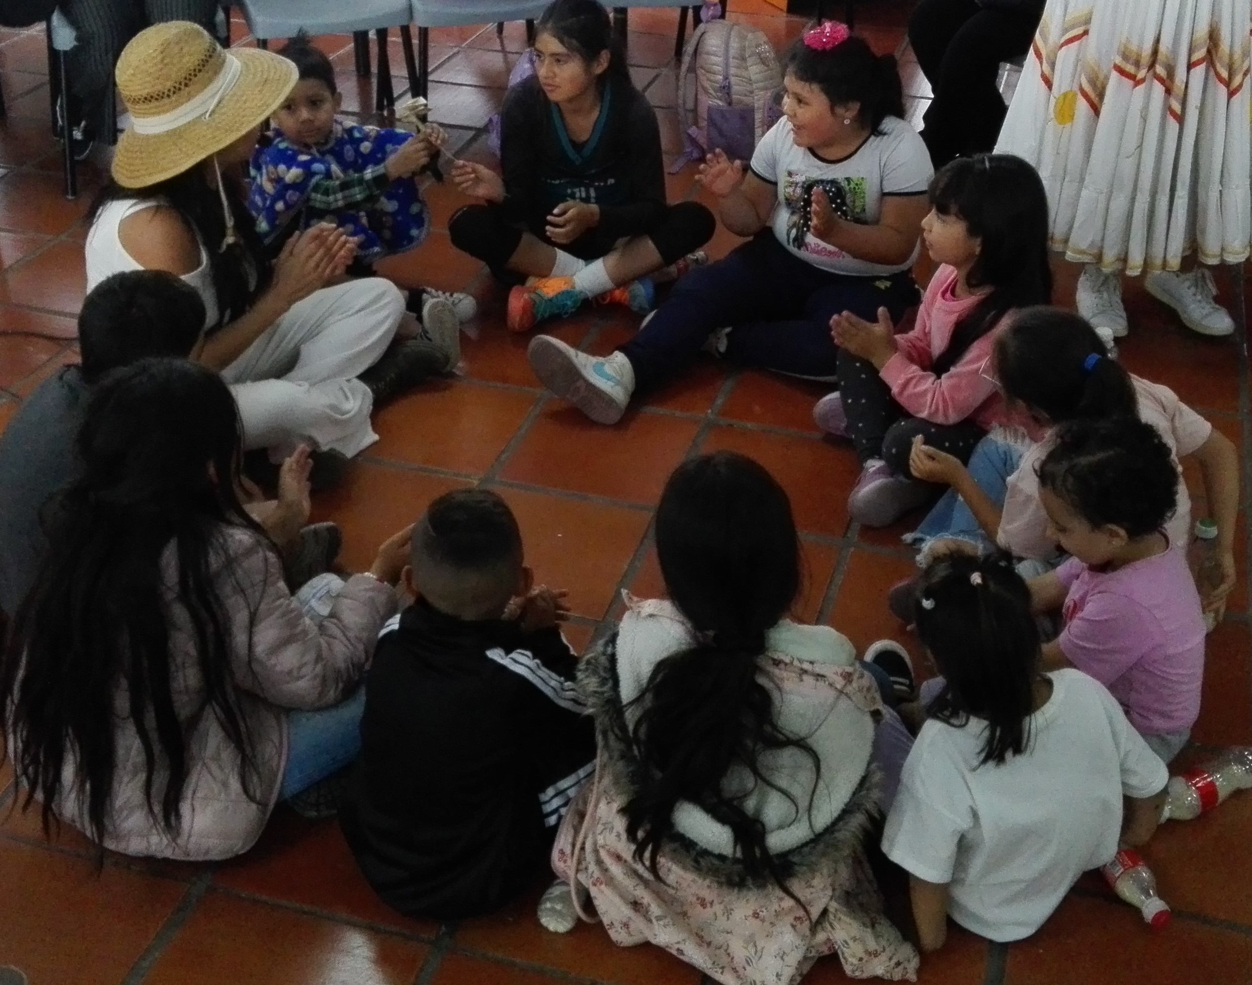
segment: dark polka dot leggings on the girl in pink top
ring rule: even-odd
[[[840,349],[838,367],[848,437],[853,439],[861,464],[871,458],[881,458],[896,474],[911,476],[909,452],[913,438],[918,434],[925,438],[926,444],[968,462],[974,446],[987,433],[973,421],[931,424],[919,417],[910,417],[891,398],[891,388],[883,382],[878,369],[868,359]]]

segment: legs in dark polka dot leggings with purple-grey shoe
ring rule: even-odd
[[[840,350],[838,363],[848,437],[861,463],[848,512],[866,527],[885,527],[939,492],[931,483],[914,479],[909,471],[909,452],[918,434],[926,444],[967,462],[984,432],[969,421],[934,424],[911,417],[868,359]]]

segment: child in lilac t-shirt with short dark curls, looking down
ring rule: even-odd
[[[1178,467],[1156,428],[1134,418],[1068,424],[1039,467],[1050,532],[1069,561],[1034,578],[1037,612],[1065,626],[1044,667],[1077,667],[1122,702],[1169,762],[1199,716],[1204,617],[1186,544],[1166,523]]]

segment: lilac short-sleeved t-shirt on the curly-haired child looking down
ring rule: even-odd
[[[1204,617],[1181,547],[1099,572],[1069,558],[1065,658],[1121,702],[1141,735],[1183,732],[1199,716]]]

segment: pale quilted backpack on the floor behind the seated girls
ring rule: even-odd
[[[692,91],[694,89],[694,91]],[[679,114],[686,153],[671,170],[724,150],[751,160],[752,149],[782,115],[782,69],[764,33],[742,24],[701,24],[682,53]]]

